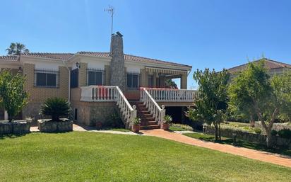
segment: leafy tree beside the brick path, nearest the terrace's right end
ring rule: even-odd
[[[215,140],[221,140],[220,123],[222,123],[227,109],[227,70],[222,72],[205,69],[194,72],[194,79],[198,83],[198,96],[194,102],[194,108],[188,112],[191,120],[202,120],[215,127]]]

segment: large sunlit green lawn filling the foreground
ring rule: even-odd
[[[0,181],[290,181],[291,168],[158,137],[96,132],[0,138]]]

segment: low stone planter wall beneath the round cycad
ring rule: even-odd
[[[73,121],[62,119],[61,121],[51,121],[50,119],[37,120],[40,132],[71,132],[73,131]]]

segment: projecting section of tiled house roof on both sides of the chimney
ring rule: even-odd
[[[97,56],[97,57],[108,57],[110,58],[109,52],[77,52],[80,55],[91,55],[91,56]],[[178,64],[174,62],[166,62],[158,59],[151,59],[147,57],[139,57],[139,56],[134,56],[134,55],[127,55],[124,54],[124,59],[130,60],[133,62],[147,62],[147,63],[155,63],[155,64],[167,64],[171,66],[178,66],[178,67],[191,67],[186,64]]]

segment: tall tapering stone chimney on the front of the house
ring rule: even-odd
[[[125,91],[125,68],[124,68],[124,45],[121,33],[117,32],[111,36],[110,45],[110,85],[119,86]]]

